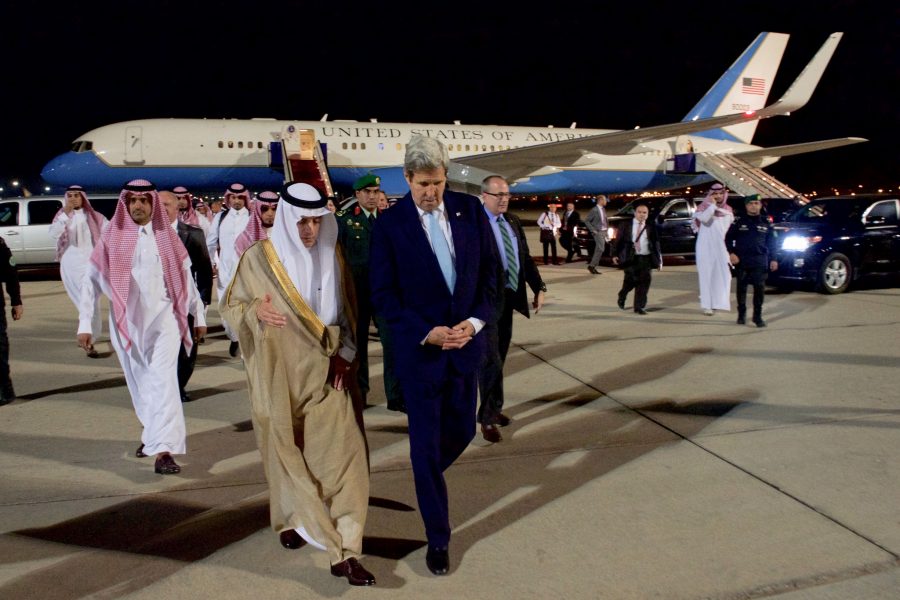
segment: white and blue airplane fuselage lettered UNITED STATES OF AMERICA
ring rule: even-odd
[[[311,130],[323,145],[333,184],[347,190],[361,175],[374,172],[388,194],[407,191],[402,168],[406,143],[414,134],[447,146],[450,159],[510,148],[609,133],[603,129],[371,123],[356,121],[277,121],[271,119],[147,119],[99,127],[80,136],[42,172],[55,185],[81,185],[115,191],[132,179],[159,188],[184,185],[218,191],[241,182],[251,189],[278,189],[282,132],[289,126]],[[692,137],[695,152],[756,149],[734,141]],[[595,194],[671,189],[710,181],[705,174],[666,173],[675,138],[647,142],[629,154],[585,154],[574,165],[545,165],[514,182],[516,194]],[[277,156],[276,156],[277,154]],[[774,162],[774,161],[772,161]],[[273,167],[273,165],[275,165]],[[668,166],[671,166],[669,164]]]

